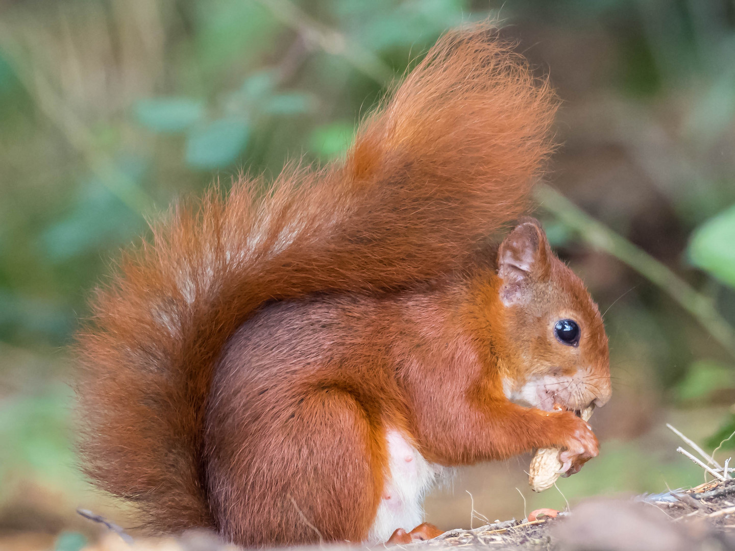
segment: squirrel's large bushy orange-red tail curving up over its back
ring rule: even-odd
[[[398,289],[466,262],[525,209],[555,107],[490,25],[470,26],[431,48],[344,161],[176,207],[79,335],[88,475],[158,531],[216,527],[202,428],[229,336],[266,300]]]

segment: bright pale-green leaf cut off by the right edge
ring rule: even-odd
[[[735,287],[735,206],[697,228],[689,242],[692,264]]]

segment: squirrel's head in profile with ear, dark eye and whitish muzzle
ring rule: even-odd
[[[611,386],[602,316],[538,220],[523,219],[501,243],[493,288],[505,328],[495,346],[506,396],[545,410],[603,406]]]

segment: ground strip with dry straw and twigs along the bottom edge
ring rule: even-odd
[[[542,510],[543,511],[543,510]],[[550,510],[546,510],[550,511]],[[550,511],[551,514],[556,511]],[[589,500],[555,518],[495,522],[473,530],[449,530],[437,538],[395,546],[412,551],[719,551],[735,550],[735,479],[631,500]],[[323,544],[314,550],[365,549]],[[386,548],[390,548],[387,546]],[[233,551],[202,533],[173,540],[136,540],[110,533],[85,551]],[[306,548],[301,548],[306,549]]]

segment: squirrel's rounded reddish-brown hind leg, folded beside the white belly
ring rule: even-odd
[[[348,392],[290,389],[250,395],[238,411],[215,404],[209,493],[221,533],[248,547],[361,541],[382,487],[376,431]]]

